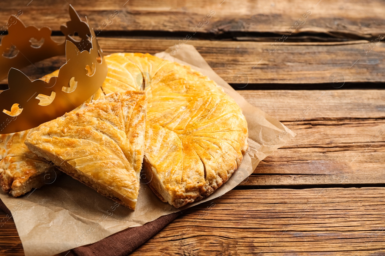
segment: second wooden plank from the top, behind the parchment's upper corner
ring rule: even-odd
[[[178,43],[123,38],[99,38],[99,42],[106,54],[125,51],[154,54]],[[326,84],[327,89],[343,89],[344,82],[385,82],[385,43],[382,42],[367,54],[367,41],[283,43],[273,52],[271,43],[209,40],[188,43],[236,89],[260,89],[258,84],[304,84],[303,89],[312,89],[311,84],[316,83]],[[23,72],[39,78],[59,68],[64,61],[58,57],[41,61],[35,64],[36,68],[31,65]],[[243,79],[239,80],[239,75]]]

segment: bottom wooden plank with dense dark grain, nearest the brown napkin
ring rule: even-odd
[[[131,255],[383,255],[385,188],[232,190]]]

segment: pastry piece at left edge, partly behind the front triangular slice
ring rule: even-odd
[[[50,184],[61,173],[27,149],[29,131],[0,135],[0,186],[13,197]]]

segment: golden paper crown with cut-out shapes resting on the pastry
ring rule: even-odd
[[[107,64],[94,30],[90,29],[87,17],[87,22],[80,20],[71,5],[69,14],[71,20],[60,26],[66,38],[63,43],[52,40],[49,27],[25,26],[20,19],[10,16],[8,35],[0,42],[0,79],[8,73],[9,88],[0,93],[0,134],[28,130],[62,116],[80,106],[102,86]],[[75,33],[80,40],[72,38]],[[35,46],[33,41],[42,43]],[[48,82],[31,81],[18,70],[64,54],[66,63]],[[44,97],[49,99],[48,104],[40,101]]]

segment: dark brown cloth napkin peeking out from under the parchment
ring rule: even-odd
[[[10,210],[0,200],[0,209],[11,215]],[[127,256],[148,239],[161,231],[168,223],[175,220],[181,213],[171,213],[147,222],[143,226],[127,228],[93,243],[74,248],[67,256]]]

